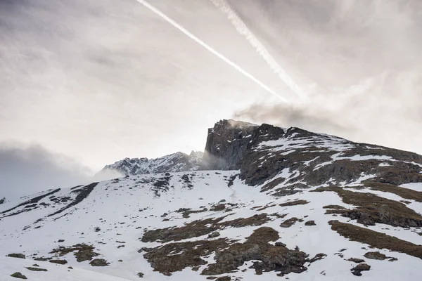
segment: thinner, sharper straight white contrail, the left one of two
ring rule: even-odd
[[[165,15],[160,10],[158,10],[158,8],[155,8],[154,6],[152,6],[151,4],[149,4],[148,2],[146,2],[144,0],[136,0],[136,1],[138,1],[140,4],[142,4],[143,6],[146,6],[146,8],[150,9],[151,11],[153,11],[154,13],[156,13],[157,15],[159,15],[161,18],[163,18],[164,20],[166,20],[167,22],[169,22],[170,25],[173,25],[174,27],[176,27],[178,30],[180,30],[181,32],[183,32],[184,34],[186,34],[189,38],[191,38],[194,41],[196,41],[198,44],[200,44],[201,46],[203,46],[204,48],[206,48],[208,51],[210,51],[211,53],[217,55],[218,58],[221,58],[222,60],[224,60],[226,63],[228,63],[232,67],[236,68],[236,70],[238,70],[238,72],[241,72],[241,74],[245,75],[245,77],[248,77],[249,79],[251,79],[252,81],[254,81],[256,84],[260,85],[264,90],[268,91],[269,93],[272,93],[274,96],[276,96],[277,98],[279,98],[280,100],[282,100],[284,103],[290,103],[288,100],[286,100],[286,98],[283,98],[278,93],[276,93],[271,88],[269,88],[269,86],[265,85],[260,80],[258,80],[255,77],[253,77],[252,74],[250,74],[249,72],[246,72],[245,70],[243,70],[242,67],[236,65],[236,63],[232,62],[231,60],[229,60],[228,58],[226,58],[221,53],[215,51],[214,48],[212,48],[211,46],[209,46],[208,44],[206,44],[204,41],[202,41],[201,39],[199,39],[198,37],[196,37],[195,35],[193,35],[191,32],[188,32],[188,30],[186,30],[184,27],[182,27],[181,25],[179,25],[177,22],[175,22],[171,18],[167,17],[167,15]]]

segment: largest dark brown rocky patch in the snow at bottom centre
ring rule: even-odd
[[[260,270],[276,270],[283,274],[300,273],[307,254],[302,251],[276,247],[270,241],[279,239],[276,230],[258,228],[247,238],[245,243],[228,244],[225,239],[201,240],[194,242],[176,242],[156,247],[143,256],[151,263],[154,270],[160,273],[173,273],[186,267],[198,267],[206,264],[201,256],[215,251],[215,263],[209,264],[202,275],[219,275],[230,273],[245,261],[257,260],[251,268]]]

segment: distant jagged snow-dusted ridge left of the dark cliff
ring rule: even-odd
[[[203,152],[192,151],[190,155],[183,152],[176,152],[155,159],[124,158],[114,164],[106,165],[96,176],[109,174],[110,171],[118,171],[124,176],[197,171],[200,167],[202,157]]]

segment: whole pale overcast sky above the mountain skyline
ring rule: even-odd
[[[232,65],[141,2],[0,0],[0,197],[203,150],[227,118],[422,154],[421,1],[148,1]]]

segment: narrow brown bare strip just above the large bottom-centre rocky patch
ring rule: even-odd
[[[180,241],[193,237],[207,235],[220,230],[224,227],[242,228],[245,226],[261,226],[270,221],[271,218],[266,213],[255,214],[249,218],[236,218],[232,221],[221,222],[225,217],[221,218],[207,218],[202,221],[193,221],[187,223],[185,226],[174,228],[160,228],[156,230],[147,230],[143,233],[142,242],[170,242]]]

